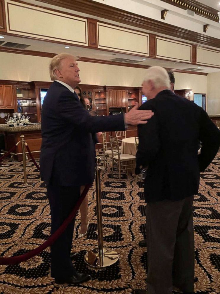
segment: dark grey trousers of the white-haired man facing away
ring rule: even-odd
[[[173,285],[193,292],[193,196],[147,203],[147,289],[171,294]]]

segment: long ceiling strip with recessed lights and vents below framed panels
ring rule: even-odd
[[[65,46],[66,46],[65,44],[57,44],[57,43],[51,43],[51,42],[28,39],[28,38],[20,38],[20,37],[8,36],[4,34],[1,34],[1,35],[4,36],[4,39],[0,39],[0,40],[4,41],[4,43],[0,45],[0,48],[6,42],[14,42],[19,44],[30,45],[29,47],[27,47],[26,50],[32,50],[32,51],[48,52],[48,53],[55,53],[55,54],[62,53],[62,52],[69,52],[78,57],[88,57],[88,58],[101,59],[101,60],[112,60],[114,58],[124,58],[127,60],[139,61],[138,63],[136,63],[138,65],[139,64],[150,65],[150,66],[159,65],[162,67],[179,69],[179,70],[186,70],[187,68],[195,68],[197,69],[197,71],[201,71],[203,73],[212,73],[212,72],[220,71],[220,68],[211,68],[211,67],[205,67],[205,66],[198,68],[197,65],[192,65],[190,63],[180,63],[177,61],[159,60],[159,59],[154,59],[150,57],[146,57],[146,60],[143,60],[142,56],[128,55],[128,54],[117,53],[117,52],[108,52],[108,51],[89,49],[89,48],[77,47],[77,46],[71,46],[71,45],[68,45],[70,47],[69,49],[65,49]],[[7,47],[4,47],[4,48],[7,48]],[[128,63],[126,62],[126,64]]]

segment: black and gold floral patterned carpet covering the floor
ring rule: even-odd
[[[0,165],[0,256],[21,255],[48,239],[50,208],[46,188],[32,162],[27,162],[30,188],[23,183],[21,162]],[[194,201],[195,293],[220,293],[220,154],[201,175],[199,195]],[[92,279],[77,287],[60,287],[50,277],[50,250],[18,265],[0,266],[0,294],[129,294],[145,289],[146,248],[138,243],[145,237],[145,202],[142,182],[123,174],[121,180],[110,168],[101,173],[104,246],[117,250],[119,261],[102,270],[90,269],[83,262],[86,250],[97,246],[95,186],[89,191],[89,232],[77,239],[79,215],[73,248],[80,252],[76,269]],[[174,293],[178,293],[174,289]]]

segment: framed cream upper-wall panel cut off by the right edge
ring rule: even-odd
[[[197,47],[197,63],[220,67],[220,51]]]

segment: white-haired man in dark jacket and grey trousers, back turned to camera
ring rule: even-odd
[[[136,155],[136,173],[148,167],[144,180],[148,292],[135,293],[171,294],[173,285],[193,293],[193,195],[198,193],[200,171],[219,150],[220,131],[202,108],[170,90],[164,68],[147,70],[143,93],[147,102],[140,109],[155,113],[146,126],[138,127]]]

